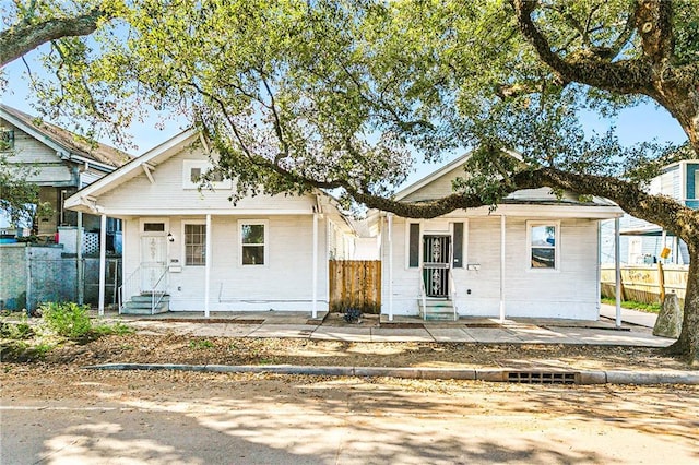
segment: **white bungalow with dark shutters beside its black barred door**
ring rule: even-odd
[[[407,187],[399,201],[450,194],[464,155]],[[459,317],[597,320],[600,222],[613,202],[550,189],[522,190],[490,212],[454,211],[435,219],[380,213],[382,309],[424,319]]]

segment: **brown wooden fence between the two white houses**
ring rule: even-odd
[[[381,312],[380,260],[331,260],[329,271],[331,311]]]

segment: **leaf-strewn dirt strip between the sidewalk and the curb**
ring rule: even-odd
[[[13,354],[5,353],[3,361],[11,365],[17,360],[13,359]],[[42,360],[32,361],[47,369],[115,362],[442,368],[498,368],[531,363],[581,370],[691,370],[683,361],[663,356],[659,349],[642,347],[348,343],[193,337],[174,333],[109,335],[85,344],[66,343]]]

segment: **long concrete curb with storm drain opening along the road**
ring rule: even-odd
[[[209,373],[275,373],[321,377],[384,377],[419,380],[471,380],[520,384],[699,384],[699,372],[589,371],[564,369],[455,369],[395,367],[306,367],[293,365],[104,363],[87,370],[174,370]]]

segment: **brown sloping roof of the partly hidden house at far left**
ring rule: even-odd
[[[132,159],[129,154],[112,146],[98,142],[88,142],[63,128],[42,121],[3,104],[0,104],[0,117],[55,148],[61,156],[69,159],[92,162],[109,168],[118,168]]]

